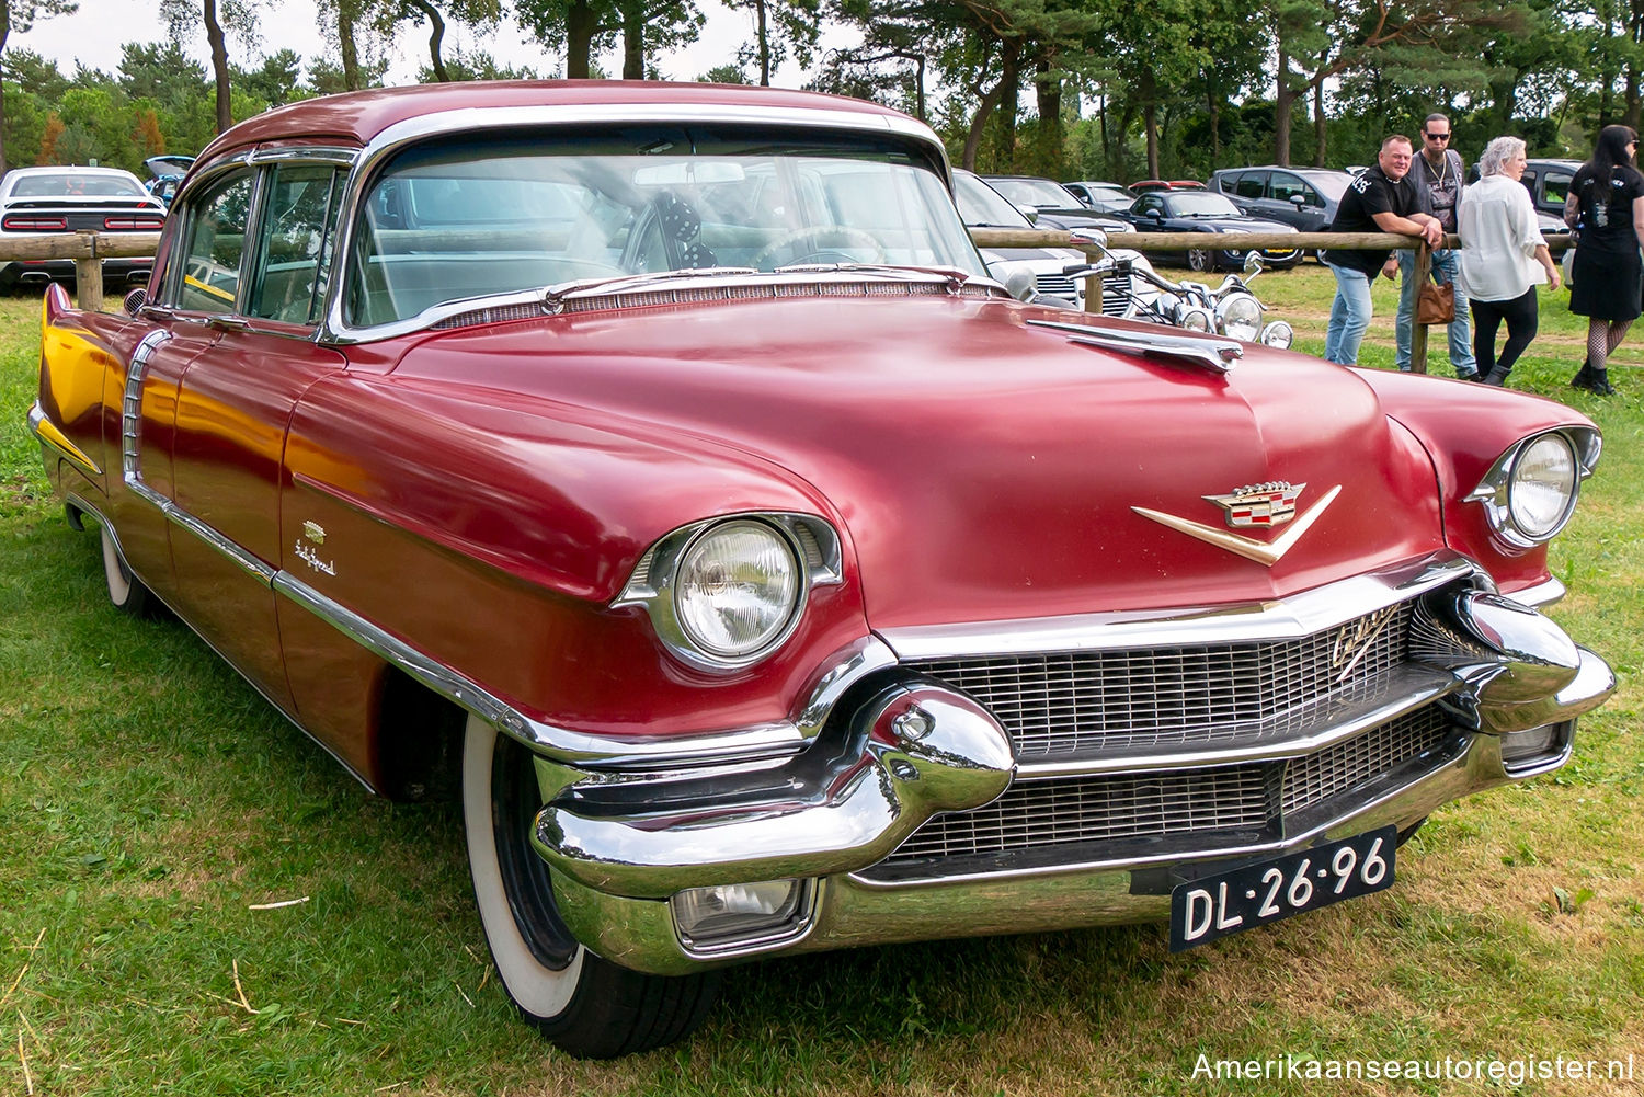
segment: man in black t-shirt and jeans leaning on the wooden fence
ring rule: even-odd
[[[1409,181],[1411,138],[1389,137],[1381,143],[1376,166],[1348,184],[1337,206],[1330,232],[1397,232],[1422,237],[1429,247],[1443,240],[1443,227],[1425,212],[1427,202]],[[1337,278],[1337,296],[1330,303],[1330,326],[1325,329],[1325,360],[1358,365],[1358,344],[1369,331],[1373,316],[1369,281],[1381,271],[1391,250],[1363,252],[1333,248],[1325,263]]]

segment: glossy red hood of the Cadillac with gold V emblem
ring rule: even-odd
[[[1442,548],[1432,464],[1353,372],[1248,345],[1217,373],[1031,321],[1085,329],[998,299],[661,306],[439,334],[395,382],[506,391],[523,431],[598,416],[804,479],[876,628],[1261,600]],[[1230,530],[1210,497],[1281,480],[1310,521],[1271,564],[1143,513],[1271,544],[1284,526]]]

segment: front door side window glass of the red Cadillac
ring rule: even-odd
[[[252,316],[288,324],[319,319],[342,178],[327,164],[275,168],[268,186],[266,230],[247,309]]]

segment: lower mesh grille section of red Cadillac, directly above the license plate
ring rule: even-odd
[[[1289,816],[1388,775],[1415,780],[1453,757],[1438,748],[1460,742],[1462,734],[1442,711],[1429,706],[1291,760],[1018,780],[985,808],[929,819],[865,875],[878,868],[894,875],[917,860],[1009,855],[1047,845],[1083,844],[1082,855],[1097,859],[1100,844],[1133,839],[1162,839],[1182,854],[1208,850],[1213,834],[1233,831],[1277,839]],[[1097,849],[1090,849],[1093,844]]]

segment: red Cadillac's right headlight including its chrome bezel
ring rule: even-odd
[[[1485,505],[1491,528],[1508,546],[1544,544],[1568,525],[1598,447],[1596,431],[1573,428],[1524,439],[1496,461],[1468,500]]]

